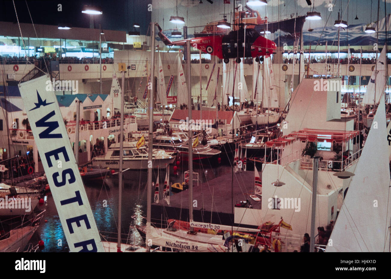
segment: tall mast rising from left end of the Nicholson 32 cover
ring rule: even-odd
[[[153,134],[153,94],[155,81],[155,23],[151,22],[151,90],[149,91],[148,112],[149,112],[149,132],[148,132],[148,164],[152,163],[152,134]],[[148,82],[147,82],[148,83]],[[152,168],[148,168],[147,178],[147,230],[151,226],[151,196],[152,196]],[[147,245],[147,252],[150,251]]]

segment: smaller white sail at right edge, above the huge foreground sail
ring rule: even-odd
[[[373,105],[375,103],[375,95],[376,95],[376,103],[378,104],[380,101],[380,96],[382,96],[384,86],[386,85],[386,46],[383,47],[379,59],[377,60],[376,76],[375,76],[376,74],[375,69],[376,67],[372,71],[371,78],[369,79],[368,86],[364,94],[364,98],[362,99],[362,103],[366,105]],[[375,82],[376,78],[377,80]],[[375,88],[375,83],[376,83],[376,88]]]

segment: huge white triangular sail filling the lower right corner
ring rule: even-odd
[[[377,127],[374,127],[377,125]],[[326,252],[389,252],[391,198],[384,98],[341,206]]]

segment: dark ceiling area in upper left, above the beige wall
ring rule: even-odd
[[[148,11],[148,1],[145,0],[112,0],[112,1],[14,1],[19,22],[58,25],[59,23],[72,24],[74,27],[90,27],[90,15],[81,13],[83,5],[96,5],[102,8],[103,14],[95,15],[95,28],[99,24],[103,29],[131,31],[133,22],[140,24],[141,34],[146,34],[151,12]],[[58,11],[58,4],[62,11]],[[17,22],[13,1],[0,1],[0,21]],[[0,27],[1,29],[1,27]]]

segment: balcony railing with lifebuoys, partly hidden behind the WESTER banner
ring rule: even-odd
[[[71,124],[66,125],[66,131],[68,134],[73,134],[76,129],[76,121],[70,121]],[[135,116],[126,116],[124,118],[124,125],[136,123]],[[101,120],[101,121],[80,121],[79,131],[94,131],[101,129],[108,129],[112,127],[120,127],[121,119],[109,119],[109,120]],[[31,130],[25,129],[9,129],[10,136],[13,139],[34,139]]]

